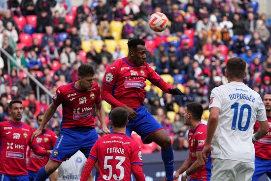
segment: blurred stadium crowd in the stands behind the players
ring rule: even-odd
[[[91,63],[101,83],[106,67],[128,55],[127,41],[139,36],[146,42],[146,62],[163,79],[184,92],[184,96],[163,94],[146,82],[144,106],[172,138],[173,149],[188,149],[184,106],[198,102],[208,117],[211,90],[226,83],[229,58],[247,62],[245,83],[260,95],[271,91],[271,19],[258,14],[256,0],[84,0],[74,6],[70,0],[0,0],[0,46],[27,68],[48,90],[77,79],[78,67]],[[148,16],[163,12],[170,20],[161,33],[149,28]],[[35,117],[48,104],[36,85],[8,58],[0,59],[0,121],[8,120],[8,103],[23,100],[23,121],[37,127]],[[104,103],[108,115],[110,108]],[[58,110],[50,129],[60,131]],[[97,120],[96,116],[96,120]],[[97,131],[102,130],[97,123]],[[107,116],[107,123],[109,118]],[[138,139],[137,136],[132,136]],[[145,150],[144,150],[145,149]],[[142,153],[159,150],[157,145],[142,147]]]

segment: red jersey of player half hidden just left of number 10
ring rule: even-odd
[[[203,150],[206,140],[207,125],[199,124],[195,130],[190,129],[188,133],[189,156],[194,163],[197,160],[197,151]],[[190,176],[191,180],[209,181],[211,178],[211,158],[198,172]]]

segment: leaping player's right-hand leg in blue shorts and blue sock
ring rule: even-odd
[[[143,106],[136,109],[136,112],[138,115],[134,120],[134,131],[141,136],[144,144],[155,142],[162,147],[161,154],[165,165],[166,179],[173,181],[173,149],[169,135]]]

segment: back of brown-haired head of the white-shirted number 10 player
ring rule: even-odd
[[[228,60],[226,65],[226,77],[231,79],[243,79],[246,76],[246,62],[239,58],[234,57]]]

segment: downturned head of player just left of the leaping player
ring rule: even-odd
[[[80,82],[82,89],[90,90],[92,88],[94,83],[94,75],[95,71],[92,65],[89,63],[82,64],[78,68],[78,81]]]

